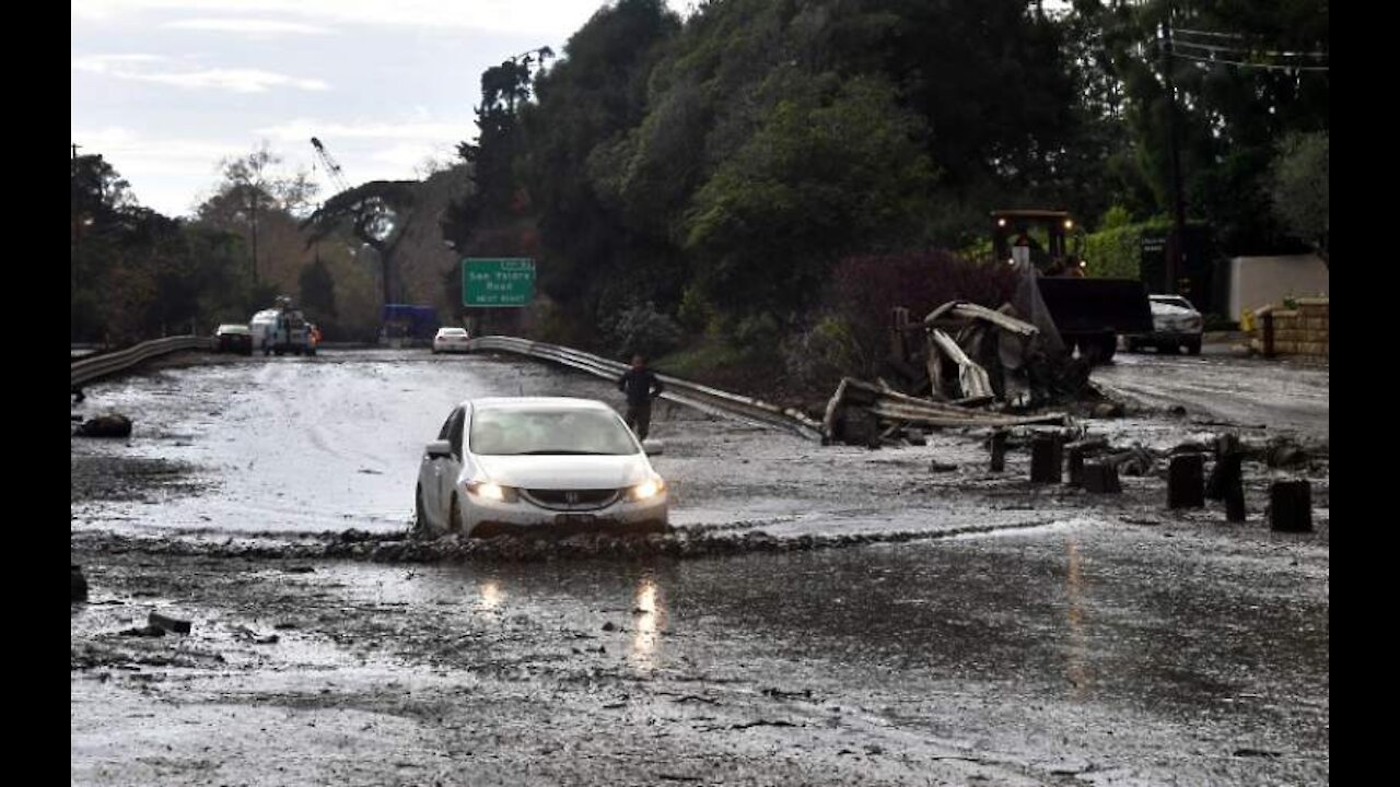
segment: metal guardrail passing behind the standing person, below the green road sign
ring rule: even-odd
[[[598,356],[570,347],[561,347],[559,344],[531,342],[528,339],[517,339],[514,336],[480,336],[477,339],[472,339],[469,342],[469,347],[472,351],[484,350],[531,356],[587,371],[608,379],[617,379],[622,372],[627,371],[627,365],[617,361],[610,361],[608,358],[601,358]],[[658,374],[657,377],[659,377],[661,382],[666,385],[666,391],[661,394],[662,399],[686,405],[710,415],[738,417],[757,426],[780,429],[808,440],[822,440],[822,424],[791,408],[778,408],[777,405],[770,405],[759,399],[718,391],[707,385],[668,377],[665,374]]]

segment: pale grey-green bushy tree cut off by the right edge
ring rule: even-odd
[[[1312,245],[1331,267],[1327,144],[1327,132],[1288,136],[1278,146],[1270,196],[1288,234]]]

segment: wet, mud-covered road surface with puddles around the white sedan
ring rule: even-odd
[[[1284,536],[1260,518],[1275,471],[1257,464],[1250,521],[1225,525],[1165,511],[1156,478],[1092,499],[1025,483],[1025,452],[987,473],[970,436],[822,448],[662,408],[679,534],[403,539],[451,403],[518,392],[612,398],[426,353],[90,388],[84,406],[136,434],[73,441],[92,587],[71,615],[73,781],[1329,780],[1324,452],[1302,471],[1317,532]],[[1148,445],[1218,431],[1089,427]],[[151,611],[193,632],[122,634]]]

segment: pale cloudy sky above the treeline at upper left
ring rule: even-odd
[[[262,140],[288,171],[312,169],[316,136],[350,183],[416,178],[475,136],[484,69],[563,55],[603,4],[71,0],[71,141],[167,216],[189,214],[218,161]]]

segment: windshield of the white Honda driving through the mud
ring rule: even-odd
[[[637,452],[636,441],[615,413],[580,409],[476,410],[468,445],[473,454],[491,457]]]

